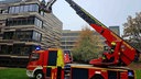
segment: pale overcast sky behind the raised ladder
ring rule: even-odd
[[[74,0],[107,26],[122,24],[128,15],[135,16],[141,12],[141,0]],[[82,30],[87,25],[65,0],[57,0],[53,5],[53,13],[63,22],[64,30]]]

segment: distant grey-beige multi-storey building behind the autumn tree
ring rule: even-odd
[[[80,35],[80,31],[70,31],[70,30],[64,30],[62,33],[62,48],[64,50],[72,50],[72,48],[75,46],[75,43],[78,41],[78,37]],[[94,35],[98,35],[101,42],[101,46],[104,46],[105,38],[101,37],[97,32],[94,32]]]

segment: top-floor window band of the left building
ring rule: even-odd
[[[39,5],[26,4],[26,5],[17,5],[9,8],[9,13],[21,13],[21,12],[39,12]]]

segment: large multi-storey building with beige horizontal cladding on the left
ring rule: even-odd
[[[40,11],[39,0],[1,1],[0,66],[24,64],[36,46],[59,47],[62,25],[53,13]]]

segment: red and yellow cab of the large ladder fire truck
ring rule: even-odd
[[[31,53],[26,75],[35,79],[64,79],[64,55],[62,49],[48,48]]]

